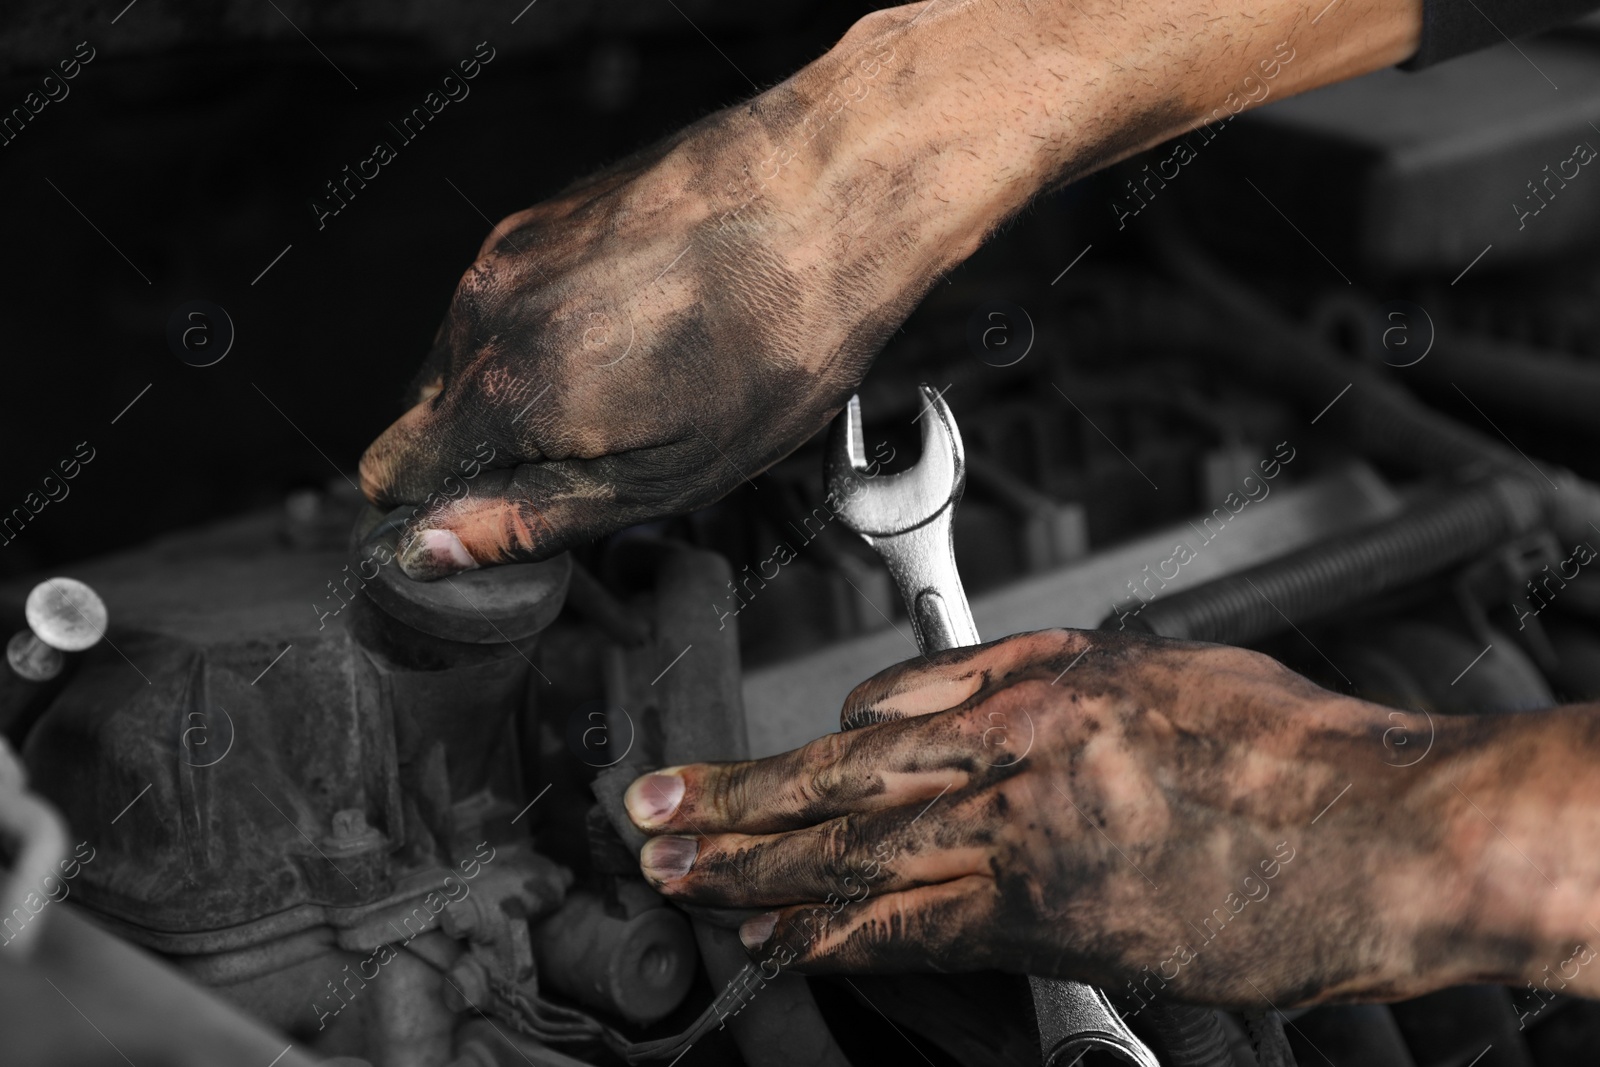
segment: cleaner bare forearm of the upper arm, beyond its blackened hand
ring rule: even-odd
[[[842,214],[912,224],[942,269],[1050,186],[1405,59],[1421,19],[1421,0],[936,0],[861,19],[757,107],[811,109],[806,146],[826,117],[826,154],[794,152],[798,184],[816,168],[859,189],[877,213]]]

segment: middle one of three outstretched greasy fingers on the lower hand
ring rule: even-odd
[[[778,907],[830,894],[856,901],[869,891],[987,873],[990,848],[976,811],[918,814],[914,805],[787,833],[656,837],[645,843],[640,869],[670,897],[718,907]]]

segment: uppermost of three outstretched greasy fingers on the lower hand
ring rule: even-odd
[[[626,803],[651,833],[778,833],[962,789],[979,745],[970,723],[909,718],[765,760],[666,768],[635,781]]]

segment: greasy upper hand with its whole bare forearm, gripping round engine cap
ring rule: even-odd
[[[1403,59],[1419,0],[907,5],[747,104],[514,214],[362,458],[402,568],[533,560],[794,450],[1042,189]],[[1290,40],[1293,37],[1293,42]],[[1304,54],[1301,54],[1304,53]]]

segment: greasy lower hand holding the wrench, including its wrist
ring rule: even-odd
[[[1563,966],[1600,993],[1594,713],[1429,720],[1245,649],[1051,630],[891,667],[842,721],[629,789],[661,893],[771,909],[757,960],[1242,1008]]]

